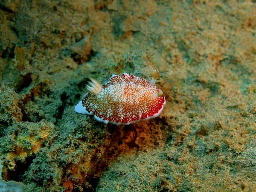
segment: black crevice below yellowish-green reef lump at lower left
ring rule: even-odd
[[[23,175],[29,169],[30,164],[35,159],[35,155],[26,158],[25,163],[19,161],[16,162],[15,171],[8,171],[7,178],[8,180],[14,180],[17,182],[23,182]]]

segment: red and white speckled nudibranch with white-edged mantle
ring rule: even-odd
[[[129,125],[159,116],[166,104],[162,90],[155,86],[157,71],[149,82],[127,73],[112,75],[107,84],[90,79],[89,93],[76,105],[77,113],[115,125]]]

